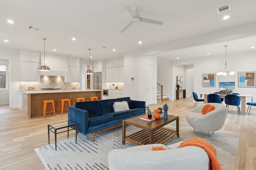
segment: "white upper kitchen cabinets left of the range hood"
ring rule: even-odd
[[[40,53],[20,50],[20,81],[40,82]]]

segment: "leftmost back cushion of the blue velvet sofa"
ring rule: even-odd
[[[99,101],[85,101],[76,102],[74,107],[88,111],[89,117],[100,115],[100,104]]]

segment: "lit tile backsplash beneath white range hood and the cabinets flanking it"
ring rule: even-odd
[[[68,87],[78,87],[78,83],[68,83]],[[34,87],[36,90],[41,88],[66,88],[64,76],[41,76],[41,82],[20,82],[20,90]]]

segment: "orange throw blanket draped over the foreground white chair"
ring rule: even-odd
[[[186,146],[197,146],[197,147],[203,148],[207,152],[211,160],[212,166],[210,167],[210,169],[222,170],[220,163],[217,159],[216,149],[209,142],[205,141],[204,139],[193,137],[182,142],[180,146],[178,146],[177,148],[186,147]]]

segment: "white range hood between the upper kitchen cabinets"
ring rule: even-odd
[[[44,56],[41,53],[41,63],[44,63]],[[50,67],[50,71],[40,71],[41,76],[68,76],[67,56],[45,53],[45,65]]]

